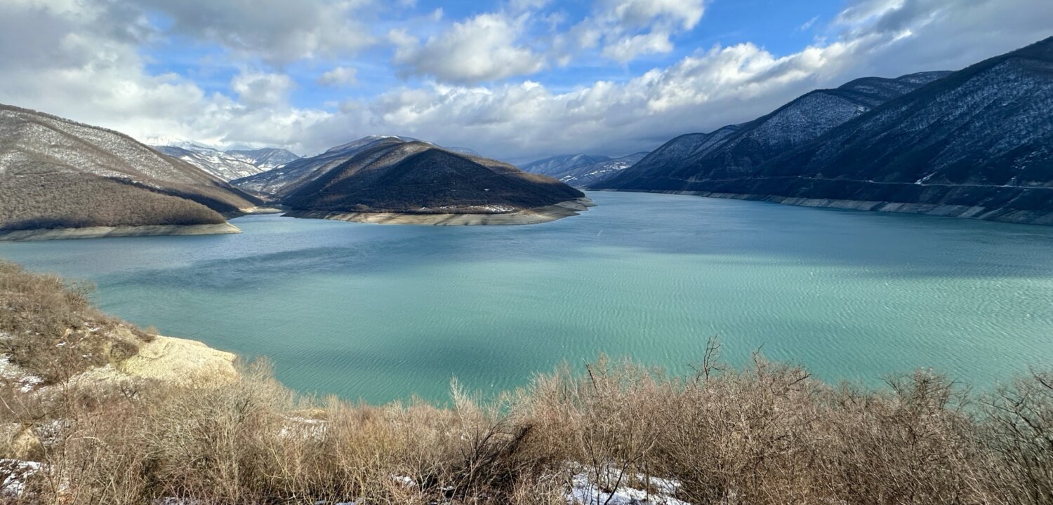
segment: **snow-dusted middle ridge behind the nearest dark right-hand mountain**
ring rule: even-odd
[[[793,147],[949,74],[868,77],[834,89],[817,89],[749,123],[677,137],[631,169],[594,184],[615,189],[682,190],[690,181],[741,177]]]

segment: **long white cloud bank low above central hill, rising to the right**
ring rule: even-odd
[[[599,81],[567,93],[532,81],[398,89],[333,118],[365,118],[364,124],[333,129],[400,132],[514,161],[562,152],[629,153],[703,124],[764,114],[788,89],[803,93],[821,69],[842,67],[853,48],[837,44],[778,58],[753,44],[714,47],[624,83]]]

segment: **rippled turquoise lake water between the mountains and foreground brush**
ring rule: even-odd
[[[533,226],[257,216],[241,235],[0,243],[103,309],[266,356],[304,391],[442,401],[598,354],[683,370],[719,336],[815,376],[979,387],[1053,364],[1053,228],[599,193]]]

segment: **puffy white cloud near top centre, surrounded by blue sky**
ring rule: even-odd
[[[493,81],[533,74],[544,66],[544,58],[518,40],[528,18],[480,14],[455,22],[423,43],[404,31],[393,31],[389,38],[397,46],[395,63],[410,74],[456,83]]]

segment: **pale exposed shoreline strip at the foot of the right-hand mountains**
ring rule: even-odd
[[[593,191],[654,193],[661,195],[689,195],[724,200],[747,200],[771,202],[797,207],[837,208],[842,210],[866,210],[872,213],[917,214],[942,218],[975,219],[1011,224],[1053,226],[1053,213],[1020,209],[989,208],[980,205],[946,205],[935,203],[878,202],[865,200],[841,200],[832,198],[780,197],[777,195],[754,195],[742,193],[659,190],[659,189],[590,189]]]

